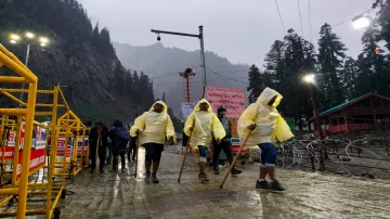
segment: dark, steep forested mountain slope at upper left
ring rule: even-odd
[[[38,87],[52,89],[60,83],[73,111],[82,119],[112,123],[120,118],[129,123],[153,103],[148,78],[141,75],[136,78],[139,82],[133,81],[133,75],[121,66],[115,54],[108,30],[92,28],[76,0],[0,1],[0,43],[22,61],[26,56],[26,44],[9,43],[9,35],[23,37],[27,30],[50,39],[44,51],[31,46],[28,67],[38,76]],[[0,75],[10,74],[4,67],[0,68]],[[20,85],[13,87],[20,88]],[[144,94],[142,100],[140,93]],[[51,100],[39,95],[38,101]],[[0,104],[13,106],[4,98]]]

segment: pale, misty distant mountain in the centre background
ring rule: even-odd
[[[184,79],[178,74],[193,67],[196,76],[191,78],[191,98],[196,102],[203,92],[203,68],[199,51],[185,51],[178,48],[166,48],[161,43],[147,47],[133,47],[126,43],[114,43],[118,59],[125,67],[143,70],[154,82],[156,96],[166,93],[167,103],[178,115],[180,102],[185,101]],[[248,83],[247,65],[234,65],[225,57],[206,52],[208,86],[233,87],[246,89]],[[216,74],[217,73],[217,74]]]

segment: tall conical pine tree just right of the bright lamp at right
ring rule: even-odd
[[[346,46],[332,31],[328,24],[321,27],[318,40],[318,64],[321,77],[320,98],[322,108],[328,108],[344,102],[344,93],[340,83],[340,72],[346,59]]]

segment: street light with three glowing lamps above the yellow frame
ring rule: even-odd
[[[39,40],[32,40],[36,35],[34,33],[30,31],[26,31],[26,34],[24,35],[25,39],[22,39],[22,37],[20,35],[16,34],[11,34],[10,35],[10,42],[12,44],[16,44],[16,43],[23,43],[23,44],[27,44],[27,52],[26,52],[26,61],[25,61],[25,65],[27,67],[28,65],[28,60],[29,60],[29,53],[30,53],[30,47],[31,44],[35,46],[40,46],[40,47],[46,47],[49,43],[49,39],[46,37],[40,37]],[[25,83],[22,83],[22,89],[24,89]],[[21,92],[21,101],[23,101],[23,95],[24,92]]]

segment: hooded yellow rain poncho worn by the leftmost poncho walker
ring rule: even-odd
[[[154,105],[159,103],[164,105],[161,113],[154,111]],[[168,106],[162,101],[153,104],[148,112],[145,112],[134,120],[134,125],[130,129],[130,134],[136,137],[136,130],[140,130],[140,144],[145,143],[165,143],[165,137],[176,140],[174,128],[170,116],[168,115]]]

